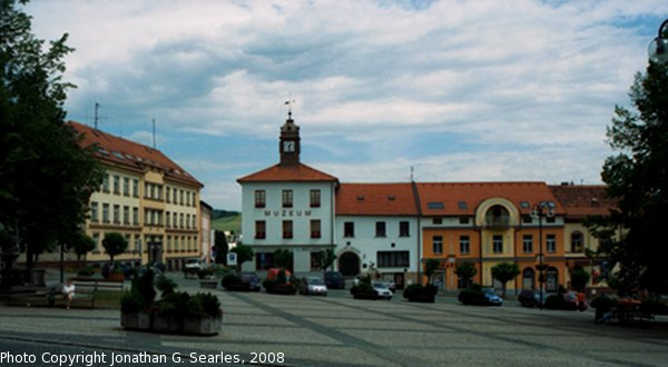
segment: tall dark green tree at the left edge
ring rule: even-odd
[[[2,247],[19,244],[32,268],[79,230],[101,170],[65,126],[67,34],[45,47],[26,2],[0,1],[0,222],[14,242]]]

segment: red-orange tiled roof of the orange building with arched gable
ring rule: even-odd
[[[563,208],[544,182],[419,182],[423,216],[473,216],[478,206],[492,198],[511,201],[522,215],[539,202],[552,202],[554,214]]]

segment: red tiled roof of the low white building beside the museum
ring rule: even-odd
[[[411,184],[341,184],[337,216],[416,216]]]

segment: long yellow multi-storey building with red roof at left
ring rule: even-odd
[[[90,197],[86,232],[96,248],[87,262],[109,261],[102,247],[108,232],[128,240],[118,261],[178,269],[186,258],[202,257],[203,185],[197,179],[157,149],[73,121],[68,126],[84,135],[82,146],[97,146],[105,168],[102,185]]]

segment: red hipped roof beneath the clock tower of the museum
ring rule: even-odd
[[[304,163],[298,165],[275,165],[255,173],[237,179],[237,182],[338,182],[334,176],[318,171]]]

